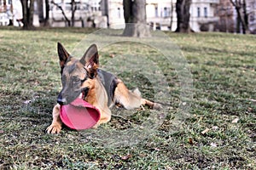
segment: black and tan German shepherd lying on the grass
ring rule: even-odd
[[[52,116],[53,121],[47,127],[47,133],[61,132],[61,105],[68,105],[78,97],[90,105],[94,105],[100,112],[100,120],[95,127],[110,121],[113,105],[122,105],[125,109],[139,108],[148,105],[153,109],[160,109],[161,105],[143,99],[138,90],[131,92],[125,87],[124,82],[113,74],[99,68],[99,55],[96,44],[87,49],[81,59],[75,59],[67,53],[58,42],[58,55],[61,66],[61,93],[58,95]]]

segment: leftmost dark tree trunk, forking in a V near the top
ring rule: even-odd
[[[23,28],[32,29],[33,26],[33,14],[34,14],[34,0],[20,0],[23,13]]]

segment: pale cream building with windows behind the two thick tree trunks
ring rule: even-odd
[[[123,0],[102,0],[102,11],[108,15],[109,26],[124,24]],[[147,22],[154,30],[172,30],[177,28],[176,0],[146,0]],[[219,0],[193,0],[190,7],[190,26],[193,31],[213,31],[218,22],[215,15]],[[206,30],[207,28],[207,30]]]

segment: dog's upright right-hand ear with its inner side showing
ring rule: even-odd
[[[92,44],[90,48],[87,49],[80,63],[84,65],[86,71],[90,73],[90,77],[94,77],[96,69],[99,67],[99,54],[96,44]]]

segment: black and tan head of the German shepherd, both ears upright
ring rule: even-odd
[[[68,105],[77,99],[79,95],[88,90],[86,81],[96,77],[99,66],[99,55],[96,44],[90,46],[81,59],[74,59],[58,42],[58,54],[61,66],[61,93],[57,102],[60,105]]]

